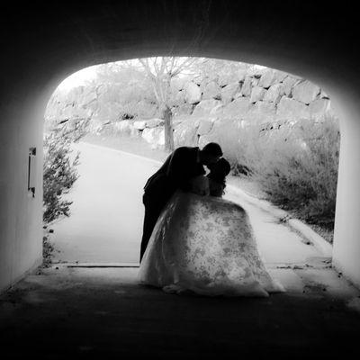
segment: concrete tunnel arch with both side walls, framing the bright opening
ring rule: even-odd
[[[41,154],[27,189],[29,148],[42,148],[49,96],[91,65],[159,55],[226,58],[310,79],[341,121],[334,263],[360,284],[360,103],[356,14],[304,1],[36,2],[1,5],[0,289],[41,258]]]

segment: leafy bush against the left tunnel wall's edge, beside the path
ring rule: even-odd
[[[65,215],[69,216],[72,202],[63,200],[62,196],[70,190],[78,177],[76,166],[79,154],[70,160],[71,140],[56,133],[44,139],[43,164],[43,222],[45,224]]]

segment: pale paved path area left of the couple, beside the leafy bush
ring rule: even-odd
[[[71,216],[52,226],[54,261],[138,262],[142,188],[157,163],[85,143],[74,148],[80,177],[67,195]]]

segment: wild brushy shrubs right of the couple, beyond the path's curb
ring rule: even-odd
[[[268,199],[309,223],[333,229],[340,132],[335,118],[247,126],[219,134],[235,175],[248,175]]]

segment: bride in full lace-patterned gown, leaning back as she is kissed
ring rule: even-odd
[[[284,292],[257,251],[247,212],[222,199],[229,162],[178,190],[167,202],[139,267],[139,283],[166,293],[262,296]]]

